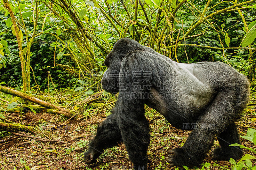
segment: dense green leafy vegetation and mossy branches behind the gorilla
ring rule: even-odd
[[[100,91],[100,79],[105,57],[122,37],[180,63],[227,63],[255,85],[256,0],[2,0],[0,18],[0,85],[33,95],[48,92],[41,98],[61,104],[50,98],[54,84],[66,96],[63,107],[86,119],[103,110],[109,114],[114,105]],[[104,104],[78,103],[97,92]],[[256,144],[252,132],[248,136]],[[243,163],[231,161],[233,169]]]

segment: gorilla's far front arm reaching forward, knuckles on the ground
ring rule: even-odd
[[[84,162],[86,164],[96,163],[96,159],[104,149],[113,147],[120,142],[122,142],[121,132],[116,122],[116,114],[113,111],[98,126],[96,136],[90,140],[87,151],[84,152]]]

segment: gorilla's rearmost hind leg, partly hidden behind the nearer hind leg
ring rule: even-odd
[[[229,146],[231,144],[241,144],[239,140],[239,134],[236,129],[236,124],[232,123],[226,130],[217,136],[220,147],[217,147],[212,152],[212,159],[217,160],[229,160],[240,159],[244,152],[237,146]]]

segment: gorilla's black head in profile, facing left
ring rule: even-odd
[[[110,93],[117,93],[119,91],[118,78],[121,69],[122,60],[129,53],[140,50],[144,46],[137,41],[129,38],[122,38],[116,41],[113,49],[107,55],[104,64],[108,67],[101,79],[103,89]]]

